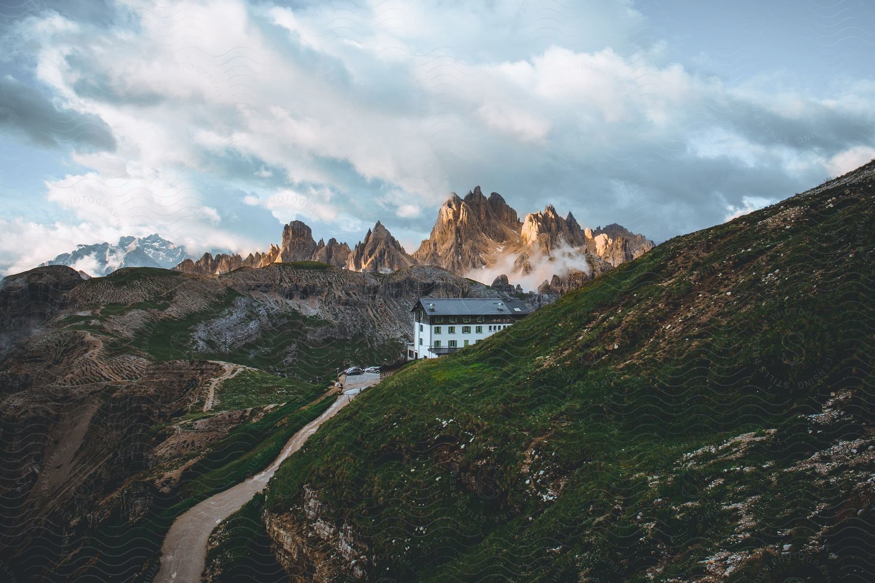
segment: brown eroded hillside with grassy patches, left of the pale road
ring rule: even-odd
[[[174,517],[272,460],[344,364],[401,354],[436,267],[274,264],[221,278],[69,267],[0,289],[3,549],[19,580],[149,580]]]

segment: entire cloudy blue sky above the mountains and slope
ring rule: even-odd
[[[412,253],[451,191],[656,242],[875,157],[869,0],[0,3],[0,274],[300,219]]]

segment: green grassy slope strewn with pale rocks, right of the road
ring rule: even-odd
[[[671,239],[408,367],[283,464],[269,509],[311,484],[404,580],[774,580],[806,560],[860,577],[872,464],[800,464],[871,451],[872,192],[832,184]],[[843,413],[816,421],[835,395]]]

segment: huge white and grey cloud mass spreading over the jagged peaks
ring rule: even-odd
[[[235,201],[248,212],[332,224],[328,236],[395,214],[416,240],[449,191],[482,184],[523,214],[553,202],[593,224],[641,219],[659,240],[875,154],[859,130],[875,84],[829,99],[767,76],[730,87],[640,40],[647,21],[626,0],[559,16],[531,2],[125,5],[130,21],[110,27],[17,24],[59,106],[99,116],[117,142],[75,154],[87,170],[46,196],[76,222],[193,252],[278,238],[236,233],[216,184],[250,193]]]

